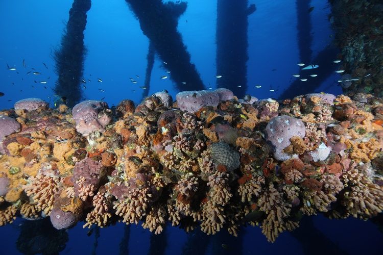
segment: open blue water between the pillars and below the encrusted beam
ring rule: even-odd
[[[15,101],[26,97],[39,97],[53,103],[52,89],[57,80],[53,53],[60,46],[72,3],[73,1],[69,0],[0,1],[0,92],[5,93],[0,97],[0,109],[11,108]],[[301,60],[297,42],[296,4],[292,0],[258,0],[249,1],[249,4],[256,4],[257,10],[248,18],[249,60],[246,93],[258,98],[278,98],[283,90],[295,81],[291,74],[298,73],[300,69],[297,65]],[[330,12],[328,3],[313,0],[310,5],[315,6],[314,11],[310,13],[313,40],[312,44],[307,46],[312,50],[312,58],[315,58],[327,45],[332,44],[333,31],[327,20],[327,14]],[[145,79],[149,45],[138,20],[123,0],[94,0],[87,15],[84,40],[87,54],[83,77],[91,82],[87,82],[86,89],[83,90],[84,99],[105,97],[104,100],[109,106],[117,105],[125,98],[138,103],[142,95],[139,86],[143,86]],[[178,31],[203,83],[213,89],[216,88],[217,80],[216,17],[217,1],[193,0],[187,2],[186,12],[179,18],[178,23]],[[337,56],[330,56],[329,64],[336,58]],[[26,68],[22,66],[23,59]],[[16,67],[19,73],[8,70],[7,64]],[[172,80],[160,79],[166,74],[163,66],[162,60],[156,57],[149,94],[167,89],[175,97],[178,91]],[[42,74],[38,77],[32,73],[26,74],[31,68]],[[140,78],[136,78],[135,75],[139,75]],[[132,84],[130,77],[138,83]],[[342,93],[336,83],[339,77],[339,74],[330,75],[312,92]],[[102,79],[103,83],[98,83],[98,78]],[[40,84],[40,81],[47,81],[47,84]],[[262,87],[257,89],[255,85]],[[306,85],[302,83],[302,86]],[[190,86],[189,89],[194,88]],[[296,93],[299,94],[299,91]],[[208,238],[203,235],[200,237],[198,232],[185,234],[178,228],[168,226],[165,242],[161,245],[165,254],[181,254],[187,240],[195,237],[195,245],[206,243],[208,254],[236,254],[241,250],[244,254],[316,254],[321,250],[336,250],[341,254],[381,254],[380,243],[383,235],[370,221],[329,220],[323,216],[312,217],[312,220],[312,225],[302,222],[300,231],[303,232],[300,234],[283,233],[274,244],[267,242],[258,227],[244,228],[239,238]],[[13,224],[0,227],[0,254],[19,252],[16,240],[22,224],[25,224],[25,221],[17,219]],[[102,229],[95,253],[114,254],[121,251],[124,227],[124,224],[119,223]],[[88,230],[83,230],[81,223],[68,230],[69,239],[61,253],[91,254],[95,234],[93,232],[88,237],[87,233]],[[147,254],[151,247],[150,232],[132,225],[129,233],[129,253]],[[307,240],[307,236],[310,235],[313,238]],[[38,240],[37,238],[36,242]],[[323,240],[328,241],[326,247],[323,247]]]

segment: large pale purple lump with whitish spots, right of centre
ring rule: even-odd
[[[291,155],[285,154],[282,150],[288,147],[290,138],[306,135],[306,129],[302,120],[282,115],[272,118],[266,126],[267,141],[274,147],[274,158],[276,160],[288,160]]]

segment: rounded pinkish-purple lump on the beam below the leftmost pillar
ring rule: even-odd
[[[86,100],[75,105],[72,114],[76,121],[77,132],[83,135],[88,135],[93,131],[105,132],[105,127],[111,121],[107,114],[100,114],[105,109],[108,109],[108,105],[96,100]]]

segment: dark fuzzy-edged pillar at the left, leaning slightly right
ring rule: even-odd
[[[54,55],[58,75],[54,90],[56,94],[66,97],[68,107],[75,106],[82,99],[80,84],[86,53],[84,30],[86,12],[90,6],[90,0],[74,0],[69,10],[69,19],[61,39],[61,47]]]

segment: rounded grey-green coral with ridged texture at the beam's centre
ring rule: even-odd
[[[208,147],[211,158],[217,165],[225,165],[233,171],[240,166],[240,153],[225,142],[213,143]]]

